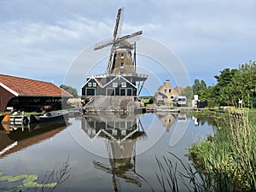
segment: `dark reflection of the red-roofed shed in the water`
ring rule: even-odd
[[[67,128],[64,120],[27,126],[0,124],[0,158],[54,137]]]

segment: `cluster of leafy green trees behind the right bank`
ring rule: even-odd
[[[224,68],[214,76],[217,84],[206,87],[203,80],[195,79],[193,91],[200,100],[210,100],[216,106],[239,106],[242,99],[243,107],[256,107],[256,62],[241,64],[238,69]]]

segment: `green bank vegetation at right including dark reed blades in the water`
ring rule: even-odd
[[[233,113],[242,115],[237,118]],[[192,165],[172,153],[162,160],[156,157],[160,169],[156,176],[163,191],[179,191],[178,177],[189,181],[189,191],[256,191],[256,110],[201,110],[194,114],[209,119],[214,135],[188,148]],[[183,172],[177,172],[177,166],[182,166]]]

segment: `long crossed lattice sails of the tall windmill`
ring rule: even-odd
[[[94,48],[94,50],[97,50],[97,49],[102,49],[108,46],[112,46],[110,55],[109,55],[109,61],[108,61],[106,73],[112,73],[113,71],[113,67],[114,67],[113,61],[114,61],[115,50],[119,49],[122,45],[125,45],[126,47],[128,47],[128,49],[135,49],[135,42],[137,41],[139,36],[143,34],[143,31],[138,31],[138,32],[131,33],[130,35],[125,35],[121,37],[123,19],[124,19],[124,8],[121,8],[118,10],[118,15],[115,21],[115,26],[113,30],[113,39],[103,44],[97,44],[96,47]],[[134,52],[134,55],[135,54],[136,53]],[[135,57],[134,57],[134,61],[135,61]],[[136,65],[136,64],[132,62],[132,65]]]

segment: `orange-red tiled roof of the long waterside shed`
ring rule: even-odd
[[[0,74],[0,86],[16,96],[64,96],[73,97],[55,84]]]

